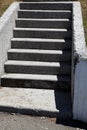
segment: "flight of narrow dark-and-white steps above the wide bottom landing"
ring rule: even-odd
[[[2,86],[71,87],[72,5],[20,2]]]

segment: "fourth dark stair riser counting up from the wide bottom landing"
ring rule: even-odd
[[[27,41],[11,41],[11,48],[19,49],[45,49],[45,50],[65,50],[71,49],[71,43],[63,42],[27,42]]]

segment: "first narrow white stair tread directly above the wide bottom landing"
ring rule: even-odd
[[[6,79],[25,79],[25,80],[47,80],[47,81],[70,81],[70,76],[57,76],[57,75],[39,75],[39,74],[4,74],[1,78]]]

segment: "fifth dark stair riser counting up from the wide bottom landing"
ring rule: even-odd
[[[33,31],[33,30],[14,30],[15,38],[53,38],[65,39],[71,38],[71,31]]]

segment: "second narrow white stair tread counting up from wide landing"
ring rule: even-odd
[[[18,60],[8,60],[5,65],[21,65],[21,66],[46,66],[46,67],[61,67],[62,65],[70,66],[69,63],[60,62],[41,62],[41,61],[18,61]]]

